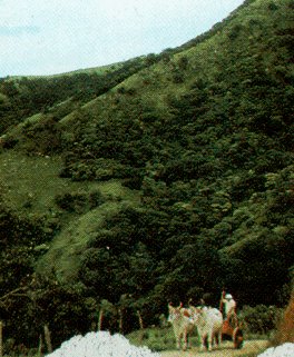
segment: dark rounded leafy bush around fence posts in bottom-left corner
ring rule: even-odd
[[[85,334],[91,326],[91,309],[78,289],[61,285],[53,275],[27,277],[26,288],[19,288],[1,298],[6,336],[14,339],[11,349],[38,347],[45,325],[51,331],[56,348],[76,334]],[[33,328],[32,328],[33,326]]]

